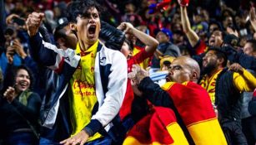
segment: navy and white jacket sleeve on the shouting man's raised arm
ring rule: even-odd
[[[60,72],[63,68],[64,62],[76,67],[78,65],[79,56],[76,56],[74,51],[66,53],[62,49],[58,49],[51,43],[43,41],[43,38],[37,33],[35,36],[30,37],[30,52],[33,60],[41,65],[48,66],[50,69]],[[68,56],[67,56],[68,55]],[[71,57],[69,57],[71,56]]]

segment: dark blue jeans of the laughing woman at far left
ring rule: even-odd
[[[3,144],[10,145],[38,145],[38,138],[30,132],[12,133],[4,140]]]

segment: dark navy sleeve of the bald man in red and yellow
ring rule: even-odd
[[[173,107],[173,99],[169,96],[168,92],[160,88],[149,77],[144,78],[138,85],[138,89],[143,91],[143,95],[156,106]]]

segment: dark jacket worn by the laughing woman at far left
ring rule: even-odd
[[[39,95],[36,93],[30,94],[27,106],[18,101],[19,97],[20,95],[9,104],[7,99],[3,99],[2,95],[0,95],[0,135],[3,133],[8,136],[16,129],[30,128],[26,119],[34,128],[39,128],[38,114],[41,106]]]

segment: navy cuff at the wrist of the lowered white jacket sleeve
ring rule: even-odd
[[[92,119],[83,130],[88,133],[89,137],[92,137],[101,128],[103,128],[103,125],[97,119]]]

